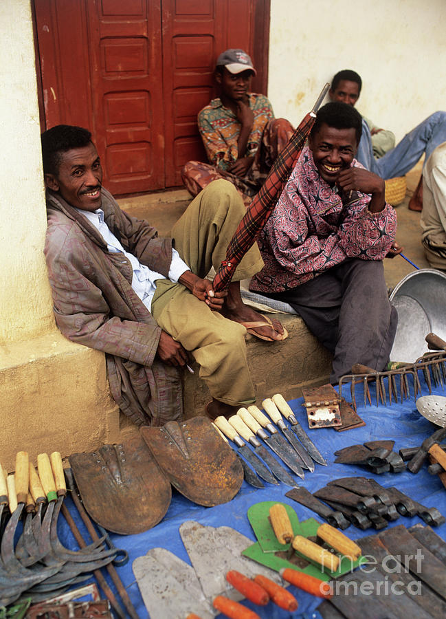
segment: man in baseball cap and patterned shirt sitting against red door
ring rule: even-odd
[[[190,161],[182,170],[192,195],[212,180],[230,180],[249,204],[265,180],[278,153],[291,138],[293,127],[274,118],[271,103],[250,92],[256,69],[243,50],[226,50],[217,58],[215,80],[221,96],[212,99],[198,115],[208,163]]]

